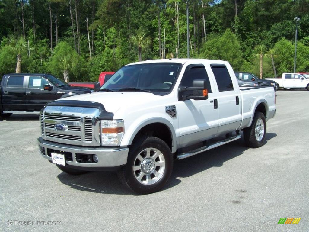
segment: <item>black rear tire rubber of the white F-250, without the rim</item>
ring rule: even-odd
[[[263,136],[261,139],[256,138],[256,125],[261,119],[264,123],[264,128],[263,128]],[[260,128],[260,127],[259,127]],[[247,146],[252,147],[252,148],[259,148],[262,146],[265,142],[265,135],[266,135],[266,120],[265,116],[263,113],[256,111],[253,117],[253,121],[250,127],[247,127],[243,130],[243,138],[247,144]]]

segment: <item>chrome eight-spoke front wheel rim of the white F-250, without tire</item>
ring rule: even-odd
[[[157,148],[146,148],[135,158],[133,173],[139,183],[154,184],[159,181],[165,170],[165,159]]]

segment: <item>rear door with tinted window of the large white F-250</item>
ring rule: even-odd
[[[230,71],[224,64],[211,64],[211,70],[217,83],[217,101],[219,110],[218,135],[235,131],[241,123],[241,98],[236,79],[231,79]]]

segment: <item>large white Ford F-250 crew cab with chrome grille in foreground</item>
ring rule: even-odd
[[[118,170],[131,190],[160,190],[173,161],[241,138],[264,144],[275,115],[272,86],[239,89],[220,60],[161,59],[126,65],[99,90],[45,105],[40,154],[69,174]]]

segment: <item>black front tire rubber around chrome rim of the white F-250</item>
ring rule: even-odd
[[[149,152],[150,154],[149,158],[155,157],[154,153],[155,150],[159,151],[160,157],[158,156],[153,160],[155,165],[152,166],[154,168],[153,172],[156,172],[156,174],[161,175],[159,176],[159,178],[157,178],[154,173],[144,174],[144,172],[142,171],[143,168],[144,170],[146,170],[146,166],[148,166],[149,164],[148,162],[145,162],[147,159],[146,156],[147,152],[145,151],[146,149],[152,150]],[[138,159],[138,156],[144,159],[144,161],[143,162],[140,161]],[[163,168],[163,166],[160,165],[157,166],[156,164],[157,162],[162,162],[162,159],[165,162],[165,166],[163,171],[159,173],[161,168]],[[123,183],[125,186],[129,187],[132,191],[138,194],[153,193],[162,189],[164,185],[167,183],[172,173],[173,162],[174,160],[171,155],[171,149],[163,140],[157,137],[142,136],[136,142],[134,142],[134,144],[132,144],[131,147],[129,148],[127,164],[117,172],[118,178],[121,183]],[[139,170],[133,171],[134,166],[140,167]],[[147,168],[149,168],[149,166]],[[140,181],[137,179],[138,176],[142,176]],[[150,177],[149,179],[150,182],[152,182],[153,180],[155,180],[156,182],[152,184],[151,183],[147,184],[148,180],[146,178],[148,176]]]

